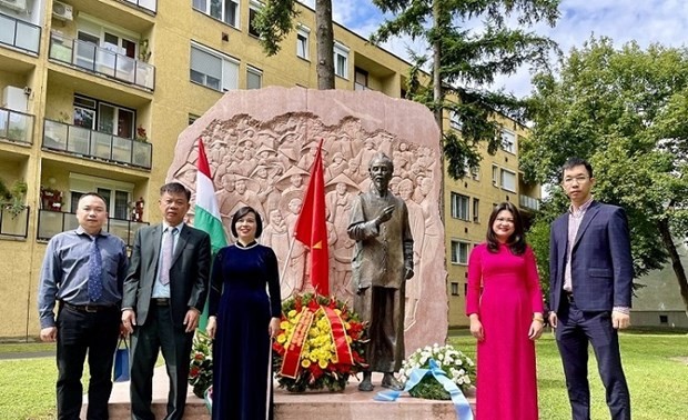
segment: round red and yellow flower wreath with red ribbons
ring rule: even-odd
[[[365,367],[366,326],[346,303],[311,293],[282,303],[273,342],[273,370],[280,388],[342,391]]]

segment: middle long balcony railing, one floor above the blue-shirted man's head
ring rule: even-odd
[[[43,149],[151,169],[153,147],[149,142],[124,139],[47,119],[43,128]]]

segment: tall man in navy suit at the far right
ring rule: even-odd
[[[618,330],[629,326],[631,284],[624,209],[593,199],[593,167],[571,158],[563,168],[569,211],[552,224],[549,322],[556,328],[573,419],[590,419],[588,343],[593,344],[613,419],[630,419]]]

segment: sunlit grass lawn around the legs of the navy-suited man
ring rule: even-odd
[[[475,340],[467,333],[451,339],[475,357]],[[684,420],[688,416],[688,334],[624,332],[620,336],[624,369],[635,420]],[[478,368],[479,369],[479,368]],[[568,420],[570,408],[561,360],[554,336],[537,342],[539,414],[543,420]],[[608,419],[605,389],[590,349],[593,419]]]

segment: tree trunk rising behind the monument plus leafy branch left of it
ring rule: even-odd
[[[296,0],[267,0],[261,8],[255,29],[269,57],[280,51],[282,41],[294,29],[294,19],[299,16],[296,3]],[[317,89],[334,89],[332,0],[315,0],[315,28]]]

